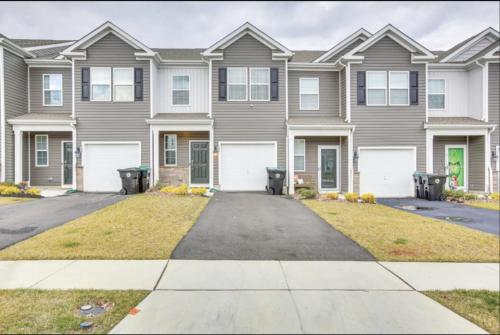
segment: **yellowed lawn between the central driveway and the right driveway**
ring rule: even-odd
[[[383,205],[304,200],[382,261],[498,262],[500,239]]]

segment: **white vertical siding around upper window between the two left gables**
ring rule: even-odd
[[[172,77],[189,75],[189,106],[172,105]],[[208,68],[167,67],[158,71],[158,113],[208,113]]]

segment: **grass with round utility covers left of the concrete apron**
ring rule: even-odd
[[[0,334],[105,334],[149,291],[41,291],[0,290]],[[80,306],[111,303],[104,314],[87,318],[78,314]],[[80,323],[92,321],[90,330]]]

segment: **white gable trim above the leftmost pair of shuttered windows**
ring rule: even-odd
[[[73,43],[68,48],[64,49],[61,54],[64,56],[85,56],[85,52],[78,51],[80,49],[86,49],[95,42],[99,41],[101,38],[108,34],[114,34],[118,38],[122,39],[124,42],[129,44],[134,49],[138,50],[135,53],[136,56],[145,56],[145,57],[153,57],[155,56],[155,52],[148,48],[143,43],[139,42],[137,39],[129,35],[124,30],[120,29],[115,24],[107,21],[104,24],[100,25],[75,43]]]

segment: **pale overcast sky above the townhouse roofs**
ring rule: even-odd
[[[208,47],[246,21],[294,50],[329,49],[391,23],[431,50],[489,26],[499,2],[2,2],[0,33],[78,39],[109,20],[149,47]]]

